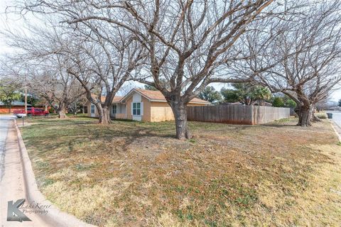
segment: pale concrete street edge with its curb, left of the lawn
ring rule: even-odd
[[[60,211],[41,194],[21,132],[11,116],[0,115],[1,141],[0,227],[93,227]],[[21,206],[20,202],[23,202]],[[8,221],[8,216],[15,220]]]

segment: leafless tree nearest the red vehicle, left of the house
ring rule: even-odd
[[[50,39],[49,31],[34,26],[28,31],[31,33],[3,32],[15,50],[6,57],[7,69],[31,92],[53,106],[59,118],[66,118],[67,106],[85,92],[77,79],[67,72],[67,58],[50,52],[55,40]]]

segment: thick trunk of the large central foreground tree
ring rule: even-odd
[[[171,103],[171,108],[175,118],[176,138],[179,140],[190,139],[192,135],[190,135],[190,131],[188,129],[186,105],[178,101],[174,101]]]

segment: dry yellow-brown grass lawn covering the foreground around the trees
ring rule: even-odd
[[[22,127],[41,192],[97,226],[340,226],[328,121],[264,126],[38,118]]]

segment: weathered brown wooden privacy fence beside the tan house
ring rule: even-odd
[[[290,117],[290,108],[271,106],[188,106],[188,121],[256,125]]]

